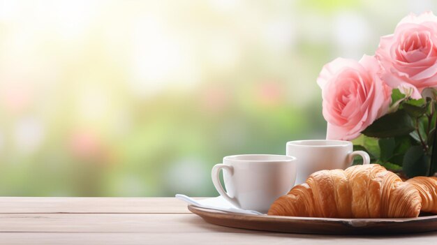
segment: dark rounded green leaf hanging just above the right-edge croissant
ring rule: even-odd
[[[425,155],[422,147],[415,145],[410,147],[403,157],[403,172],[407,177],[427,176],[429,170],[429,158]]]

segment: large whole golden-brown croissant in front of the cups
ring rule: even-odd
[[[325,218],[417,217],[419,191],[378,164],[322,170],[273,202],[268,215]]]

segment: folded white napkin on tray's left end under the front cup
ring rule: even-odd
[[[228,202],[224,198],[222,198],[221,195],[219,195],[216,198],[205,198],[202,200],[194,200],[193,198],[190,198],[182,194],[176,194],[175,197],[179,200],[187,202],[188,204],[197,207],[202,207],[204,209],[216,209],[220,211],[228,211],[237,214],[257,214],[257,215],[261,214],[259,211],[239,209],[234,205],[230,204],[230,202]]]

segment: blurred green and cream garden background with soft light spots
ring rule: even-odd
[[[0,195],[217,195],[325,137],[316,77],[434,1],[1,1]]]

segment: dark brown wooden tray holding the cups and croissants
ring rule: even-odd
[[[270,232],[306,234],[404,234],[437,230],[437,215],[418,218],[307,218],[235,214],[188,205],[208,223]]]

